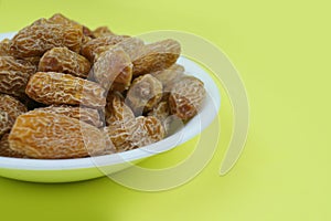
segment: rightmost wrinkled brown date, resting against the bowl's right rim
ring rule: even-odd
[[[169,107],[171,114],[188,120],[195,116],[202,107],[206,95],[204,84],[194,76],[183,76],[174,83],[170,96]]]

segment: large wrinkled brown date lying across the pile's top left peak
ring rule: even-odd
[[[11,40],[10,53],[17,57],[41,56],[54,46],[66,46],[74,52],[79,52],[82,39],[82,25],[54,23],[40,19],[14,35]]]

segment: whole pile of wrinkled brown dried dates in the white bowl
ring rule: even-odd
[[[178,41],[95,31],[57,13],[0,42],[0,156],[108,155],[159,141],[202,107]]]

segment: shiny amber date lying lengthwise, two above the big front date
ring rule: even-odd
[[[25,93],[43,104],[70,104],[87,107],[106,105],[105,90],[98,84],[55,72],[38,72],[29,81]]]

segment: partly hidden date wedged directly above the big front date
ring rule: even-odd
[[[100,120],[100,116],[99,116],[99,113],[97,109],[73,107],[73,106],[67,106],[67,105],[61,105],[61,106],[52,105],[49,107],[36,108],[34,110],[64,115],[67,117],[79,119],[79,120],[90,124],[95,127],[104,126],[103,122]]]

